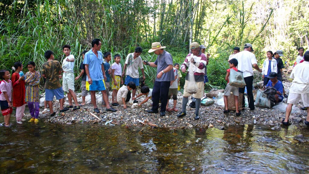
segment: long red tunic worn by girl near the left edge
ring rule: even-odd
[[[19,73],[13,73],[11,77],[13,85],[13,106],[19,107],[25,104],[25,80],[18,81]]]

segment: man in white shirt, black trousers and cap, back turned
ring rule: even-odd
[[[247,87],[247,95],[250,110],[254,110],[254,101],[253,101],[253,93],[252,93],[252,84],[253,84],[253,68],[252,66],[258,70],[260,73],[262,70],[259,68],[256,62],[255,55],[252,53],[254,50],[252,49],[252,44],[245,44],[243,51],[235,54],[233,58],[238,60],[239,71],[243,72],[243,78],[246,82]],[[239,88],[239,93],[244,93],[245,87]],[[243,97],[243,106],[245,107],[245,97]],[[244,109],[243,109],[244,110]]]

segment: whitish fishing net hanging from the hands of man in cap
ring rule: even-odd
[[[191,61],[196,61],[196,56],[193,56],[193,54],[191,54],[190,57],[187,57],[188,59],[188,85],[187,85],[187,92],[189,94],[195,94],[197,93],[197,90],[198,90],[198,87],[197,87],[197,84],[195,82],[195,79],[194,79],[194,73],[197,71],[197,67],[195,66],[195,64],[193,64]]]

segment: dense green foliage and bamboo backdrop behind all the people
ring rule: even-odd
[[[0,2],[0,68],[33,60],[40,70],[48,49],[61,61],[63,44],[72,46],[77,67],[80,53],[90,49],[94,38],[102,40],[101,51],[123,58],[141,46],[142,59],[150,61],[156,57],[147,51],[159,41],[174,62],[182,63],[189,43],[197,41],[212,55],[208,87],[223,87],[226,60],[233,47],[242,48],[244,43],[253,44],[259,63],[268,50],[281,49],[283,60],[293,64],[297,48],[306,50],[309,45],[308,4],[308,0],[5,0]],[[146,84],[152,86],[155,68],[145,70]]]

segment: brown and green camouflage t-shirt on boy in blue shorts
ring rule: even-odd
[[[52,60],[42,65],[42,75],[46,76],[45,89],[58,89],[61,87],[59,71],[62,71],[60,62]]]

